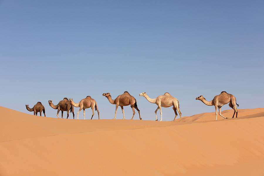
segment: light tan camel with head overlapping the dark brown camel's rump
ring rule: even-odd
[[[79,111],[77,112],[77,119],[79,119],[79,112],[81,111],[81,109],[83,109],[83,116],[84,116],[84,120],[85,120],[85,110],[84,109],[86,109],[86,108],[92,108],[92,118],[94,116],[94,108],[95,108],[95,110],[98,113],[98,119],[100,119],[97,102],[95,101],[95,99],[92,99],[90,96],[87,96],[86,98],[82,99],[79,103],[75,103],[72,100],[72,98],[70,98],[70,102],[73,106],[80,107]]]

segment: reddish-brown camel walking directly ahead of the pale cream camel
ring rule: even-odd
[[[133,111],[133,116],[132,116],[131,120],[133,119],[133,117],[135,115],[134,108],[136,108],[136,110],[138,110],[139,119],[140,120],[142,119],[140,117],[140,112],[139,112],[139,109],[138,109],[138,106],[137,106],[137,100],[133,96],[131,96],[127,91],[125,91],[122,95],[117,96],[116,99],[114,99],[114,100],[111,98],[110,93],[104,93],[103,96],[107,97],[107,99],[109,100],[109,102],[111,104],[115,104],[116,105],[116,111],[117,111],[118,106],[121,107],[122,112],[123,112],[123,116],[124,116],[123,119],[125,119],[123,106],[128,106],[128,105],[130,105],[130,107],[132,108],[132,111]],[[116,111],[115,111],[114,119],[116,119]]]

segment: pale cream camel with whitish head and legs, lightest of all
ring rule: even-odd
[[[161,111],[161,107],[170,107],[172,106],[172,109],[174,110],[175,112],[175,117],[173,119],[173,122],[174,120],[176,119],[177,117],[177,111],[179,112],[180,114],[180,122],[181,122],[181,118],[182,118],[182,113],[180,111],[180,104],[179,104],[179,100],[175,97],[172,97],[168,92],[166,92],[164,95],[160,95],[158,96],[157,98],[155,99],[152,99],[148,96],[148,94],[146,94],[146,92],[143,92],[141,94],[139,94],[139,96],[143,96],[145,97],[150,103],[155,103],[158,105],[158,108],[155,110],[155,115],[156,115],[156,121],[158,121],[158,118],[157,118],[157,111],[158,109],[160,109],[160,121],[162,121],[162,111]],[[176,111],[177,110],[177,111]]]

